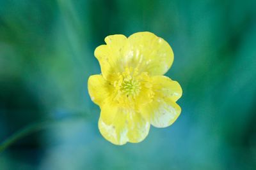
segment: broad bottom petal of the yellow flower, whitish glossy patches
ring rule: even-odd
[[[108,111],[104,111],[105,109]],[[113,114],[115,116],[112,120],[109,118],[106,120],[107,116],[104,116],[104,114]],[[109,120],[112,122],[109,122]],[[138,143],[146,138],[149,129],[149,122],[134,110],[118,107],[113,107],[109,110],[109,108],[103,107],[100,113],[100,133],[115,145],[124,145],[127,141]]]

